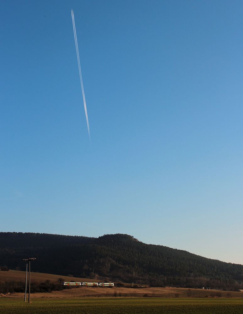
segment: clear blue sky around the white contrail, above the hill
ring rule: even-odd
[[[243,263],[242,10],[2,1],[0,230],[127,233]]]

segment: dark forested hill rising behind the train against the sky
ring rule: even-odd
[[[24,270],[23,258],[36,257],[32,271],[110,278],[152,285],[218,280],[241,282],[243,265],[224,263],[166,246],[145,244],[129,235],[99,238],[40,233],[0,233],[0,265]]]

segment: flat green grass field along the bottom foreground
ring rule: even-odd
[[[240,314],[242,299],[202,298],[87,298],[32,299],[31,304],[20,299],[1,298],[0,312],[8,314]]]

